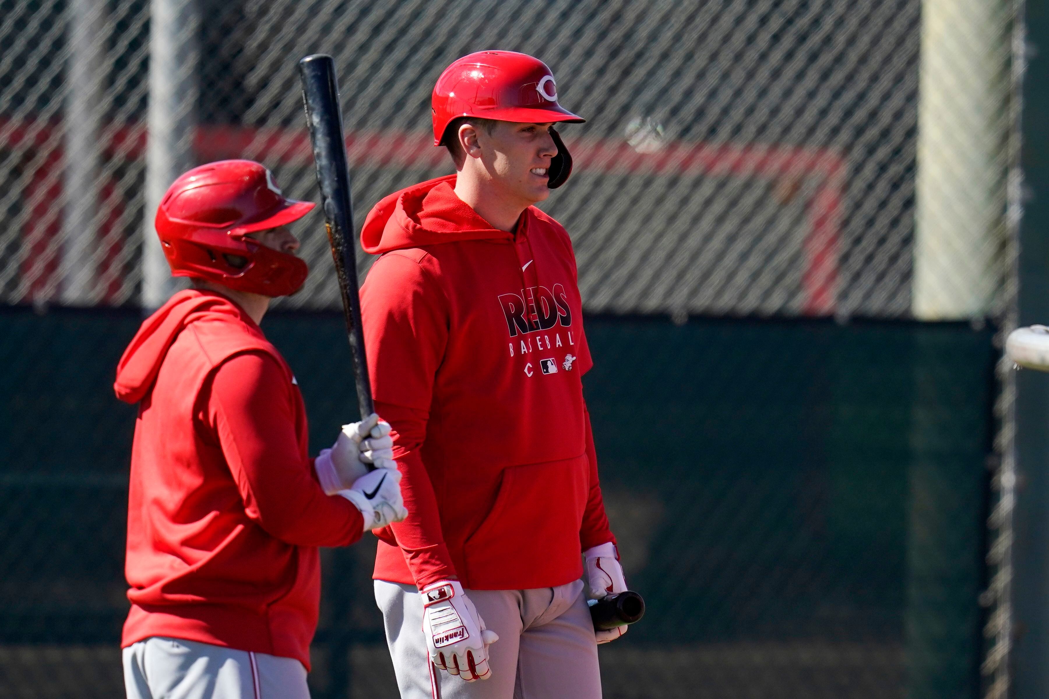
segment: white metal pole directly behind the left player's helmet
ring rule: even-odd
[[[194,0],[152,0],[149,38],[149,138],[143,224],[142,305],[157,308],[176,285],[153,227],[168,187],[194,165],[197,28]]]

